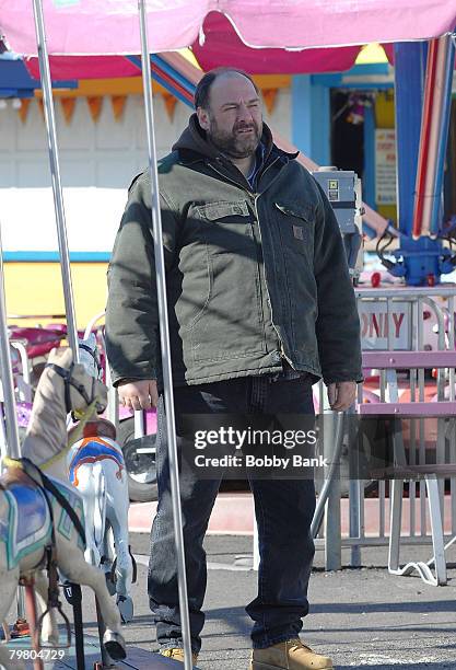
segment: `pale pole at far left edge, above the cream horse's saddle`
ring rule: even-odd
[[[21,447],[15,416],[13,370],[10,358],[10,339],[8,337],[7,328],[7,305],[4,300],[3,277],[3,245],[0,229],[0,370],[1,383],[3,388],[3,412],[7,424],[7,453],[12,459],[19,459],[21,457]]]

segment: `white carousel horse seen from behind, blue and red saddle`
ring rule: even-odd
[[[95,335],[80,340],[79,347],[85,371],[100,379]],[[133,616],[130,591],[136,566],[128,543],[127,472],[122,450],[113,438],[115,428],[109,421],[87,423],[84,437],[70,448],[67,463],[70,482],[84,501],[85,559],[106,573],[108,588],[115,588],[120,615],[127,623]]]

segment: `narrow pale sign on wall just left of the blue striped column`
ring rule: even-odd
[[[396,205],[396,131],[375,130],[375,203]]]

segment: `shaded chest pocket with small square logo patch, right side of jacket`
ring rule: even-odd
[[[312,207],[274,203],[282,245],[313,257],[314,216]]]

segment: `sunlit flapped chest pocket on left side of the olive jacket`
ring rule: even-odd
[[[243,252],[254,244],[253,216],[245,200],[201,205],[196,217],[211,255]]]

